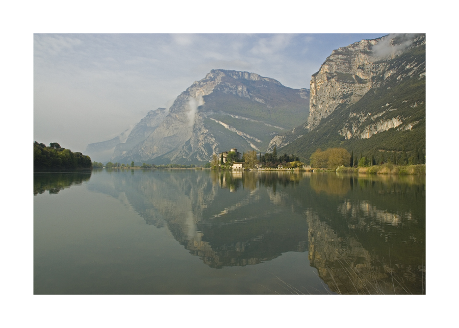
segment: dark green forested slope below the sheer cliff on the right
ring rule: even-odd
[[[309,163],[319,148],[342,147],[355,158],[373,156],[378,164],[388,160],[407,164],[410,158],[418,159],[414,164],[425,163],[425,35],[416,37],[401,54],[373,65],[384,69],[373,72],[368,92],[354,103],[343,101],[316,127],[303,130],[302,137],[278,147],[278,152],[294,153]],[[327,83],[342,87],[339,80]]]

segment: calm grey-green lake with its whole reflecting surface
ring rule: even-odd
[[[34,173],[34,294],[425,294],[425,175]]]

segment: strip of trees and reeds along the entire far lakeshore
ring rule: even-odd
[[[91,168],[207,168],[214,170],[231,170],[233,163],[238,160],[236,154],[228,153],[226,162],[223,163],[217,155],[213,155],[210,162],[202,166],[166,164],[155,165],[142,163],[141,166],[135,165],[134,161],[130,164],[91,162],[89,156],[78,152],[71,152],[57,142],[52,142],[49,146],[43,143],[34,142],[34,171],[37,169],[91,169]],[[368,173],[368,174],[425,174],[425,156],[416,147],[410,157],[403,151],[396,157],[392,154],[381,154],[378,159],[374,155],[371,157],[354,156],[345,148],[327,148],[326,150],[317,149],[310,157],[310,165],[306,165],[295,155],[281,155],[277,157],[277,149],[274,147],[272,153],[257,154],[251,150],[242,155],[244,169],[259,170],[299,170],[299,171],[336,171],[344,173]]]

